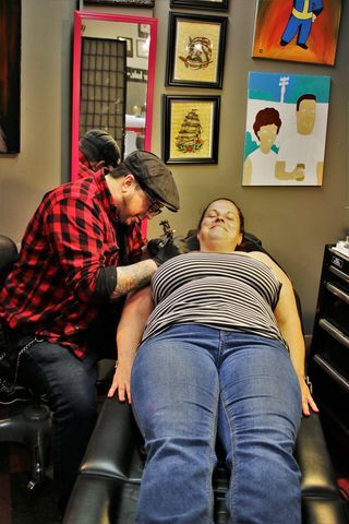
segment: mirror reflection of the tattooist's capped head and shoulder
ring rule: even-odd
[[[120,163],[120,150],[111,134],[91,129],[79,141],[79,178],[92,171],[112,170]]]

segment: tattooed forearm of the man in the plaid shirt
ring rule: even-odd
[[[132,265],[124,265],[117,269],[117,286],[111,299],[120,298],[134,289],[147,285],[156,271],[152,260],[144,260]]]

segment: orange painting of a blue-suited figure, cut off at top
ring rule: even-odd
[[[252,57],[334,66],[341,0],[258,0]]]

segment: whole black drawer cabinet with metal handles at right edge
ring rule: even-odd
[[[325,434],[348,461],[349,258],[329,245],[324,253],[309,374]]]

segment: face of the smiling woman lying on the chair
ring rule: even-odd
[[[228,200],[216,200],[206,210],[197,233],[203,251],[234,251],[242,241],[240,217],[236,205]]]

